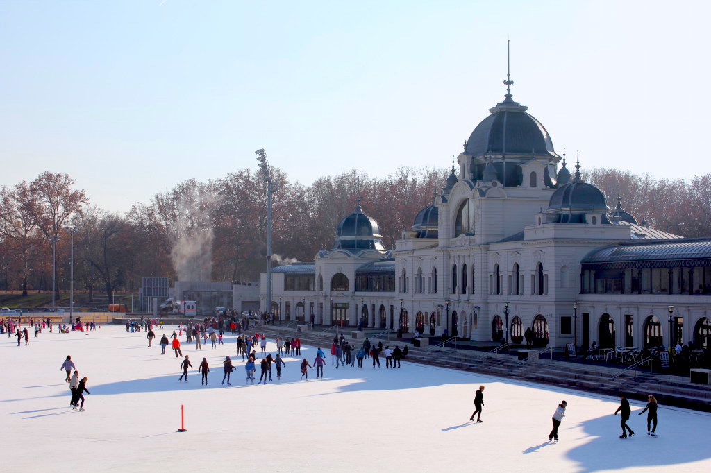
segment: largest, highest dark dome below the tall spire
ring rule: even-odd
[[[507,99],[510,100],[510,99]],[[550,155],[557,157],[548,131],[540,121],[527,114],[517,102],[506,100],[490,110],[466,142],[469,156],[487,153],[515,155]]]

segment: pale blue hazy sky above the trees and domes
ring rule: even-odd
[[[708,2],[0,2],[0,185],[123,212],[187,178],[449,165],[503,99],[584,166],[711,172]],[[569,155],[570,156],[570,155]]]

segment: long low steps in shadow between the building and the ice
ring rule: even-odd
[[[333,342],[331,332],[296,332],[294,327],[265,325],[259,329],[270,337],[296,337],[303,344],[330,349]],[[346,330],[343,330],[346,335]],[[348,338],[348,337],[347,337]],[[711,386],[691,384],[680,376],[651,374],[644,371],[625,371],[608,366],[575,364],[567,361],[538,359],[519,361],[514,355],[503,353],[482,353],[466,349],[445,347],[414,347],[407,342],[370,338],[370,342],[383,346],[407,345],[407,361],[419,364],[439,366],[441,368],[473,371],[491,376],[542,384],[552,384],[570,389],[604,393],[612,396],[624,394],[628,398],[646,401],[648,394],[653,394],[662,404],[692,408],[711,412]],[[354,347],[360,347],[362,340],[352,341]],[[513,353],[512,349],[512,353]]]

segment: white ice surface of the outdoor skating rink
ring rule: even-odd
[[[379,370],[369,360],[362,370],[328,361],[325,379],[312,371],[305,382],[300,360],[287,358],[281,381],[274,372],[267,386],[245,386],[231,335],[218,349],[183,343],[196,369],[203,357],[210,362],[205,387],[196,369],[189,383],[178,382],[180,360],[161,355],[158,344],[147,348],[145,337],[107,326],[89,335],[43,332],[16,347],[2,335],[1,470],[711,471],[706,413],[661,406],[653,438],[646,415],[636,415],[641,403],[633,402],[638,435],[620,440],[615,398],[410,363],[389,370],[384,360]],[[310,362],[315,352],[302,348]],[[89,378],[82,413],[68,407],[60,371],[68,354]],[[225,355],[237,366],[229,388],[220,385]],[[484,422],[474,424],[479,384],[486,386]],[[560,442],[548,443],[550,417],[563,399]],[[181,404],[187,433],[176,433]]]

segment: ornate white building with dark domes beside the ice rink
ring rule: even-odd
[[[510,92],[489,109],[394,249],[359,204],[333,249],[274,268],[272,312],[493,343],[530,329],[538,346],[708,346],[711,239],[638,224],[619,197],[611,209],[527,110]]]

